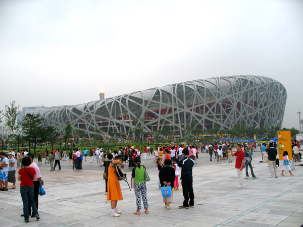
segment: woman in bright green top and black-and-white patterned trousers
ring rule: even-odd
[[[146,196],[146,183],[145,183],[145,174],[144,174],[144,166],[141,167],[141,160],[139,157],[134,158],[135,167],[132,169],[131,177],[135,178],[135,194],[136,194],[136,204],[137,210],[134,214],[141,214],[141,194],[142,200],[145,208],[145,213],[149,213],[148,211],[148,203],[147,203],[147,196]]]

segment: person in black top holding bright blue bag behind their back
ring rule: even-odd
[[[174,202],[172,188],[174,188],[174,181],[176,178],[175,169],[171,166],[171,163],[170,159],[166,159],[164,161],[164,167],[162,167],[159,172],[163,202],[168,210],[170,209],[170,203]]]

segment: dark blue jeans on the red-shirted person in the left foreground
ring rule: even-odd
[[[28,204],[30,204],[30,206],[32,207],[34,215],[38,216],[38,210],[34,202],[34,187],[21,186],[20,194],[23,202],[24,220],[29,220]]]

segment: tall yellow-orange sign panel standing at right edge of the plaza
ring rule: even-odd
[[[278,131],[279,160],[283,160],[284,151],[288,152],[289,160],[292,160],[290,131]]]

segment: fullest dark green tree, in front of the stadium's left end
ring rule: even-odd
[[[34,152],[36,153],[37,142],[42,142],[45,139],[45,128],[42,126],[43,120],[39,115],[27,113],[22,121],[22,128],[25,139],[29,142],[29,152],[31,143],[34,143]]]

